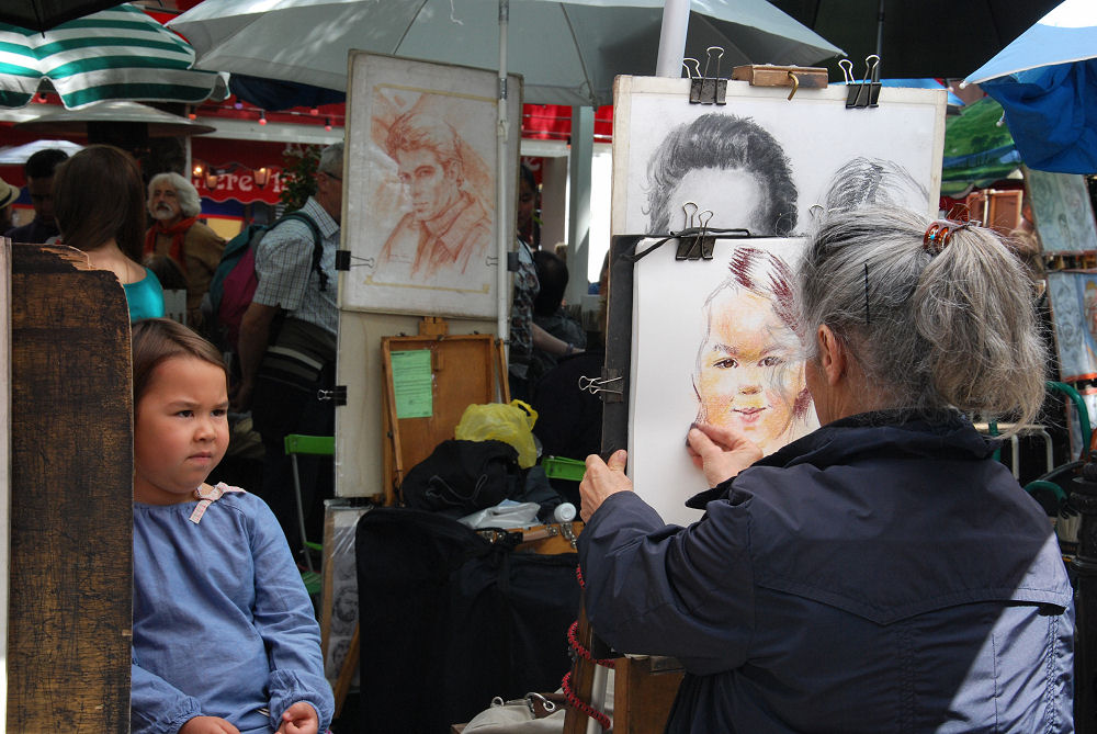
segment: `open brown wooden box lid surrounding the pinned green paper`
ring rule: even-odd
[[[399,418],[393,385],[395,351],[431,352],[432,404],[429,417]],[[491,335],[384,337],[381,340],[385,402],[385,505],[396,500],[404,474],[453,438],[465,408],[473,404],[509,402],[502,352]]]

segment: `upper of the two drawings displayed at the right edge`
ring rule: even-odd
[[[1097,250],[1097,224],[1085,177],[1025,169],[1025,180],[1044,252]]]

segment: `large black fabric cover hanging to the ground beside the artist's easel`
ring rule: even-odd
[[[495,696],[559,688],[576,554],[517,553],[405,508],[366,512],[355,543],[361,732],[445,734]]]

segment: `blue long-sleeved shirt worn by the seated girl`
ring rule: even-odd
[[[231,492],[194,523],[196,505],[134,502],[132,731],[206,715],[269,733],[297,701],[326,731],[320,630],[273,512]]]

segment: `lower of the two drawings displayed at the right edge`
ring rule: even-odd
[[[1059,379],[1097,379],[1097,272],[1049,272],[1048,301],[1055,329]]]

